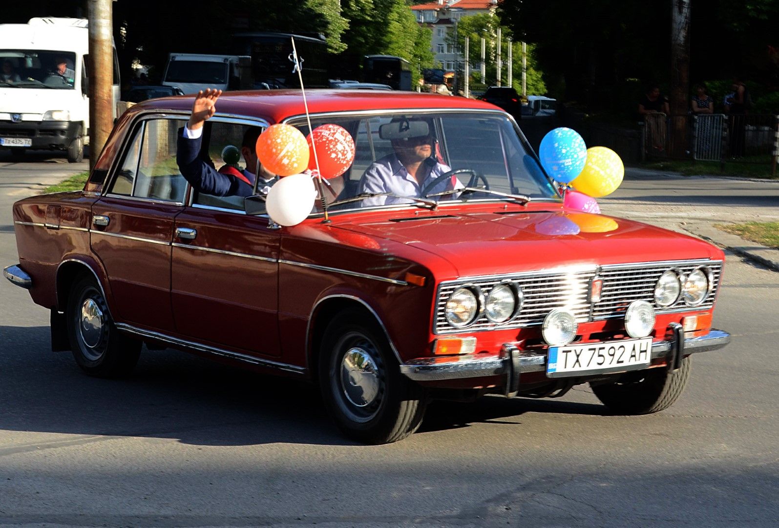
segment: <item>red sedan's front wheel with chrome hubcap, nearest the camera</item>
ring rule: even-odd
[[[348,371],[347,353],[360,371]],[[327,325],[319,354],[319,386],[338,428],[356,441],[402,440],[425,416],[425,390],[400,374],[379,324],[359,310],[345,310]]]

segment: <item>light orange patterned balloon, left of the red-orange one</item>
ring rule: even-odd
[[[259,162],[273,174],[291,176],[308,167],[308,142],[294,126],[269,126],[257,138],[256,148]]]

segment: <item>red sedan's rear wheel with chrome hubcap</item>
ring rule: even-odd
[[[95,278],[84,275],[76,279],[65,317],[73,357],[86,374],[124,377],[138,363],[141,342],[115,327]]]

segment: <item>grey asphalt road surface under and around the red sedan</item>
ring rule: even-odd
[[[7,265],[10,204],[72,165],[2,160]],[[684,182],[696,201],[722,183]],[[673,185],[630,178],[603,204],[645,214]],[[693,212],[675,207],[662,222]],[[728,256],[714,324],[733,342],[694,356],[662,413],[608,416],[584,387],[437,403],[420,432],[386,446],[345,441],[305,384],[172,350],[144,351],[124,381],[86,377],[49,351],[48,312],[3,281],[0,525],[777,526],[777,278]]]

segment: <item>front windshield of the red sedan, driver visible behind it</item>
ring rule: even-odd
[[[332,210],[473,200],[559,200],[554,186],[499,112],[312,117],[354,139],[354,163],[329,180]],[[295,122],[308,135],[308,126]],[[319,150],[319,149],[318,149]],[[416,200],[415,200],[416,199]]]

